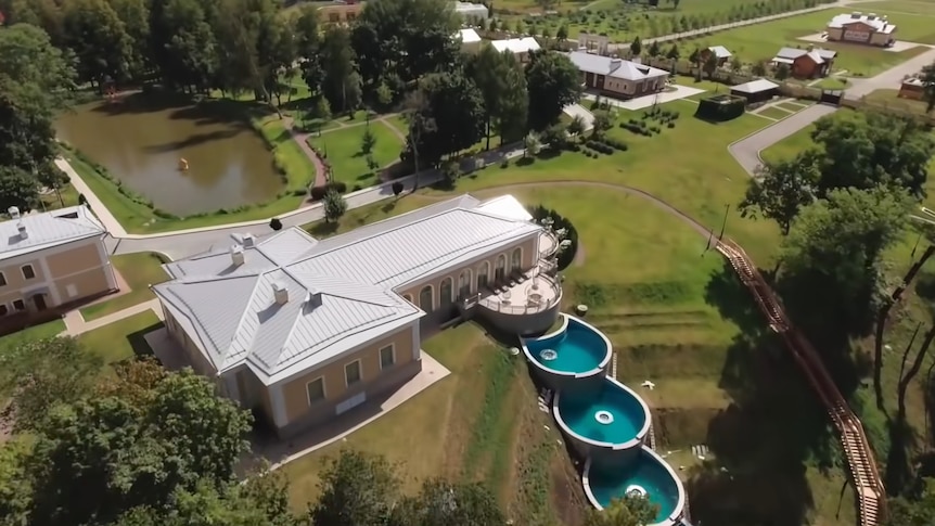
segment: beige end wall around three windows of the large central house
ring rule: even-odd
[[[292,423],[307,416],[309,412],[316,410],[315,406],[319,403],[330,407],[330,403],[342,401],[353,394],[366,390],[367,385],[379,381],[382,374],[389,373],[412,362],[413,347],[418,345],[413,341],[414,333],[413,325],[408,325],[395,334],[372,342],[357,352],[343,356],[331,363],[285,382],[282,385],[282,392],[287,422]],[[396,362],[393,367],[383,371],[380,368],[380,349],[387,345],[394,346]],[[344,368],[356,360],[360,360],[361,382],[348,388],[344,376]],[[324,400],[319,401],[315,406],[309,406],[306,386],[309,382],[313,382],[319,377],[324,379]]]

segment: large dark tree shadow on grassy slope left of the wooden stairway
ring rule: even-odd
[[[804,524],[816,500],[807,469],[844,465],[824,409],[727,264],[712,275],[705,300],[741,332],[727,349],[718,384],[732,401],[708,423],[716,461],[693,470],[687,483],[693,518]]]

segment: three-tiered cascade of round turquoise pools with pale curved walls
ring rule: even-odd
[[[650,526],[680,524],[686,490],[671,466],[645,445],[652,425],[649,407],[632,389],[607,376],[613,356],[611,341],[593,325],[566,313],[561,316],[562,325],[556,331],[523,339],[523,352],[534,374],[554,393],[552,415],[566,440],[587,459],[581,484],[588,500],[603,510],[613,499],[638,487],[659,506]],[[569,335],[573,345],[567,345]],[[555,355],[542,359],[541,352],[547,349],[579,356],[562,361]],[[585,421],[589,415],[593,422]],[[624,423],[617,419],[629,419],[630,427],[614,426]],[[594,424],[609,428],[604,432]]]

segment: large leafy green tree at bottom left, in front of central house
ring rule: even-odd
[[[37,429],[33,524],[106,524],[133,508],[170,508],[205,483],[234,483],[251,420],[191,370],[137,399],[60,405]]]

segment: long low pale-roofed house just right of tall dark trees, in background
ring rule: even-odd
[[[623,59],[572,51],[568,57],[581,72],[585,89],[618,99],[656,93],[666,87],[669,72]]]

